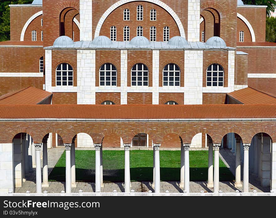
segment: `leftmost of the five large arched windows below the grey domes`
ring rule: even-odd
[[[56,68],[56,85],[72,86],[73,85],[73,68],[67,63],[62,63]]]

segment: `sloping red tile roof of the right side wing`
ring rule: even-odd
[[[241,104],[276,104],[276,98],[249,87],[227,93],[227,95]]]

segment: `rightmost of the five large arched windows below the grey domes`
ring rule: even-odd
[[[207,69],[207,86],[223,86],[224,69],[219,64],[212,64]]]

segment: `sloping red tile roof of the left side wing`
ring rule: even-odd
[[[39,104],[51,95],[52,93],[50,92],[29,86],[27,88],[0,96],[0,104]]]

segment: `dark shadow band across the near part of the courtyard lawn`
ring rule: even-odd
[[[104,181],[124,182],[124,169],[110,169],[103,172]],[[130,179],[133,182],[150,182],[152,181],[152,167],[136,167],[130,168]],[[190,167],[190,181],[207,181],[208,168]],[[161,181],[179,181],[180,169],[173,167],[160,167]],[[232,181],[233,174],[227,167],[220,167],[220,181]],[[49,175],[50,181],[65,181],[65,167],[55,167]],[[78,182],[95,182],[94,169],[76,168],[76,181]]]

